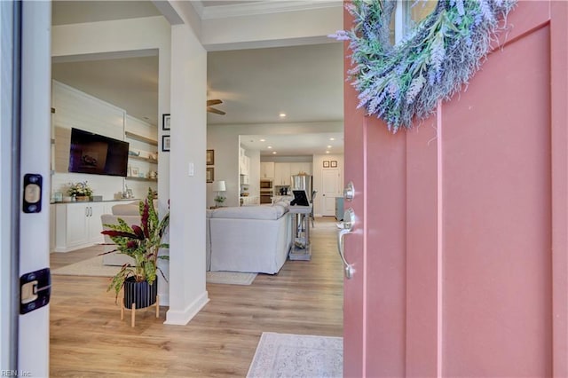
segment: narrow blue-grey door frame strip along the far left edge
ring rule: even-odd
[[[21,3],[0,2],[1,41],[0,67],[3,79],[0,85],[0,366],[6,371],[18,369],[18,296],[12,295],[19,285],[18,241],[20,234],[19,180],[17,161],[19,149],[12,146],[19,139],[20,119],[20,51]],[[7,310],[7,311],[6,311]]]

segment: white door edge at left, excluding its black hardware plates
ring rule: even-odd
[[[20,67],[21,99],[17,109],[20,144],[14,146],[20,147],[16,158],[20,161],[13,161],[16,178],[12,182],[18,198],[14,211],[20,216],[19,277],[49,268],[50,264],[51,2],[21,2]],[[41,210],[36,213],[25,213],[22,209],[23,179],[27,173],[43,177]],[[20,374],[49,376],[49,309],[48,303],[19,315],[17,369]]]

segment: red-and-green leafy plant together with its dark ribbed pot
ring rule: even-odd
[[[170,224],[170,212],[158,218],[154,209],[154,192],[148,189],[146,200],[138,204],[140,212],[140,225],[126,224],[118,218],[118,224],[103,224],[109,230],[102,231],[113,240],[116,248],[108,253],[118,252],[132,257],[134,264],[124,264],[121,270],[114,275],[106,289],[114,288],[116,299],[124,287],[124,307],[130,309],[132,303],[136,308],[144,308],[155,303],[158,293],[156,272],[162,270],[158,267],[158,259],[169,260],[170,256],[159,255],[162,248],[170,248],[169,243],[162,242],[162,237]]]

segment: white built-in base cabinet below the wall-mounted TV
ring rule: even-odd
[[[69,252],[102,243],[100,216],[110,214],[119,201],[57,203],[55,207],[55,252]]]

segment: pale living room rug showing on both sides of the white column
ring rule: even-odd
[[[51,271],[51,274],[64,276],[113,277],[120,266],[104,265],[103,256],[94,256],[75,264],[63,266]],[[207,272],[207,282],[227,285],[250,285],[256,273],[241,272]]]

